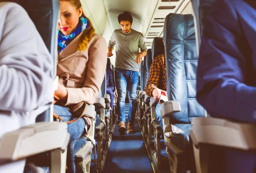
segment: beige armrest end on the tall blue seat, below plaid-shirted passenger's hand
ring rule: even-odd
[[[161,110],[162,117],[170,116],[180,111],[181,111],[180,102],[178,101],[165,101],[162,103],[162,110]]]

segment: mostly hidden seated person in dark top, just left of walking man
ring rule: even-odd
[[[108,61],[110,61],[108,59]],[[106,74],[106,85],[107,85],[107,89],[106,89],[106,93],[110,96],[110,115],[112,115],[112,110],[113,110],[113,105],[114,105],[114,91],[115,91],[115,87],[114,87],[114,78],[113,78],[113,72],[112,69],[110,69],[110,63],[107,64],[107,74]]]

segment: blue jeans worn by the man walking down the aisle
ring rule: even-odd
[[[117,99],[117,115],[118,122],[125,123],[125,96],[126,89],[129,96],[129,116],[128,122],[134,124],[135,111],[137,107],[136,90],[139,82],[139,72],[132,70],[116,69],[116,89],[118,93]]]

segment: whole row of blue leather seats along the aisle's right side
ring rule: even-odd
[[[192,0],[193,16],[167,15],[163,38],[154,38],[152,48],[148,49],[141,65],[136,115],[158,172],[166,172],[167,157],[172,173],[188,170],[210,172],[208,165],[212,146],[241,152],[255,150],[255,143],[249,139],[253,137],[255,125],[208,117],[196,100],[198,47],[203,22],[214,3],[213,0]],[[162,100],[160,103],[147,96],[145,89],[150,66],[162,53],[165,54],[166,89],[170,101]],[[155,116],[157,104],[161,104],[162,128]],[[240,141],[246,141],[246,144],[242,145]]]

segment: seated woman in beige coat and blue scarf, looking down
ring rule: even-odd
[[[107,62],[106,41],[94,33],[79,0],[60,0],[58,53],[59,101],[54,112],[67,122],[78,118],[76,112],[84,103],[95,103]],[[85,122],[81,118],[68,124],[71,141],[84,133]]]

